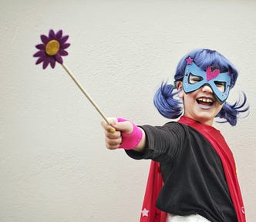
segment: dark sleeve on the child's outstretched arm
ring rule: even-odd
[[[151,159],[158,162],[173,160],[179,153],[180,144],[184,141],[184,126],[170,122],[164,126],[140,126],[146,134],[144,153],[126,150],[128,156],[135,160]]]

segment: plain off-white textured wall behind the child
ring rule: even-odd
[[[167,121],[153,107],[192,49],[224,54],[240,71],[251,115],[217,124],[234,151],[248,221],[255,208],[256,2],[73,0],[0,2],[0,221],[138,221],[149,161],[104,145],[101,116],[57,64],[35,66],[49,29],[72,44],[64,57],[106,116]]]

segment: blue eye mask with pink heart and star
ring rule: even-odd
[[[206,69],[206,72],[200,69],[190,57],[187,60],[185,75],[183,80],[183,88],[185,93],[193,92],[200,87],[210,86],[214,96],[222,104],[227,99],[231,88],[231,74],[229,72],[220,73],[219,69],[211,70],[211,66]],[[190,81],[190,77],[194,76],[196,81]],[[221,90],[218,86],[223,85]]]

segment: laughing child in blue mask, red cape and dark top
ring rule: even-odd
[[[158,111],[170,119],[181,116],[178,122],[102,122],[107,148],[153,160],[140,221],[245,221],[233,155],[212,126],[215,117],[235,126],[238,114],[248,111],[244,93],[238,103],[226,102],[236,80],[237,70],[223,55],[197,49],[178,63],[174,84],[163,84],[154,97]]]

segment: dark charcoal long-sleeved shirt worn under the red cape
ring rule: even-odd
[[[235,222],[221,158],[197,130],[182,123],[140,126],[146,150],[126,150],[136,160],[160,162],[163,188],[157,207],[170,214],[200,214],[212,222]]]

